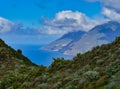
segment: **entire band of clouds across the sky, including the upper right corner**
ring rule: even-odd
[[[100,2],[102,4],[101,15],[105,18],[91,19],[79,11],[65,10],[56,13],[52,19],[44,18],[43,26],[39,28],[22,28],[21,25],[0,18],[0,33],[13,32],[28,35],[63,35],[71,31],[89,31],[94,26],[108,20],[120,22],[120,0],[86,0],[89,2]],[[14,30],[13,30],[14,29]]]

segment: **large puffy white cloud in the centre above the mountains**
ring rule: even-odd
[[[44,26],[40,28],[40,32],[44,34],[65,34],[76,30],[89,31],[102,22],[103,20],[90,19],[81,12],[67,10],[58,12],[52,20],[44,19]]]

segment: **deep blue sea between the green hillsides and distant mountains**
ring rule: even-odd
[[[53,58],[61,58],[72,59],[72,56],[64,55],[59,52],[50,52],[41,50],[42,46],[40,45],[11,45],[14,49],[21,49],[22,54],[29,58],[33,63],[37,65],[49,66]]]

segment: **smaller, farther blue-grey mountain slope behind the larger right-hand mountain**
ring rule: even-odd
[[[85,32],[83,31],[69,32],[63,35],[61,38],[50,43],[49,45],[42,47],[41,49],[49,50],[49,51],[60,51],[71,42],[74,42],[80,39],[83,34],[85,34]]]

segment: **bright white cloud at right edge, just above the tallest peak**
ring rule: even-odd
[[[104,7],[102,13],[110,20],[115,20],[120,22],[120,13],[117,13],[115,10]]]

